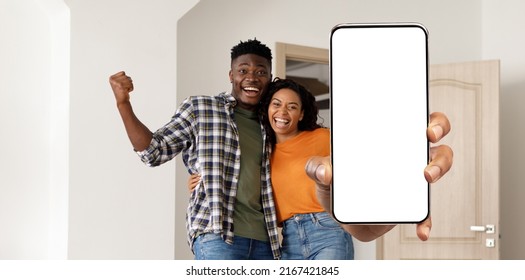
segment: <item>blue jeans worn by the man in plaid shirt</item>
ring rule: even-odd
[[[216,233],[199,235],[193,252],[196,260],[273,260],[270,242],[234,236],[230,245]]]

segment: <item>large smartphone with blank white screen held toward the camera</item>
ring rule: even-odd
[[[332,211],[341,223],[418,223],[430,212],[428,32],[344,23],[330,34]]]

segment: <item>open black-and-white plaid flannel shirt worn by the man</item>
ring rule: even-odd
[[[239,134],[233,119],[235,98],[228,93],[185,99],[171,121],[153,133],[150,146],[137,152],[148,166],[158,166],[182,152],[191,173],[201,174],[186,211],[188,244],[198,234],[220,233],[233,243],[233,211],[240,174]],[[263,129],[263,143],[266,136]],[[266,228],[275,259],[280,258],[277,218],[273,201],[270,161],[263,145],[261,198]]]

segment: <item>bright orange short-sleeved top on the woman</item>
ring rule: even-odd
[[[330,131],[318,128],[275,145],[271,179],[279,225],[294,214],[325,211],[317,200],[315,183],[305,172],[312,156],[330,155]]]

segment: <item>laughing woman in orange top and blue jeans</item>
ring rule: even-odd
[[[317,123],[314,96],[289,79],[276,78],[261,100],[271,146],[271,180],[282,227],[282,259],[353,259],[352,236],[324,211],[306,172],[312,156],[330,155],[330,131]],[[198,183],[190,177],[190,189]]]

